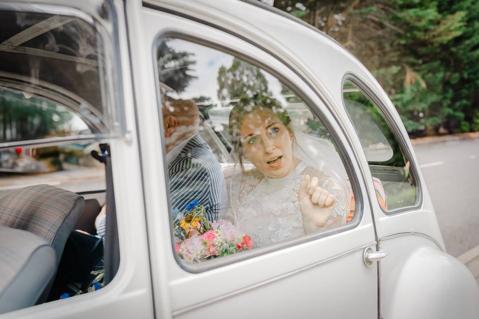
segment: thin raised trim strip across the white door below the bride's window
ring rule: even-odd
[[[172,317],[178,317],[178,316],[183,315],[183,314],[185,314],[185,313],[189,313],[189,312],[191,312],[191,311],[193,311],[193,310],[195,310],[195,309],[198,309],[198,308],[201,308],[201,307],[205,307],[205,306],[208,306],[208,305],[217,303],[217,302],[219,302],[219,301],[222,301],[222,300],[225,300],[225,299],[228,299],[228,298],[231,298],[231,297],[240,295],[240,294],[242,294],[242,293],[248,292],[248,291],[253,290],[253,289],[256,289],[256,288],[258,288],[258,287],[261,287],[261,286],[264,286],[264,285],[267,285],[267,284],[276,282],[276,281],[278,281],[278,280],[281,280],[281,279],[284,279],[284,278],[293,276],[293,275],[295,275],[295,274],[298,274],[298,273],[300,273],[300,272],[306,271],[306,270],[308,270],[308,269],[311,269],[311,268],[314,268],[314,267],[317,267],[317,266],[320,266],[320,265],[323,265],[323,264],[326,264],[326,263],[335,261],[335,260],[337,260],[337,259],[343,258],[343,257],[348,256],[348,255],[350,255],[350,254],[353,254],[353,253],[355,253],[355,252],[362,251],[362,250],[365,249],[365,248],[368,248],[368,247],[371,247],[371,246],[376,246],[376,245],[377,245],[377,242],[376,242],[376,241],[373,241],[373,242],[364,244],[364,245],[362,245],[362,246],[359,246],[359,247],[350,249],[350,250],[348,250],[348,251],[346,251],[346,252],[343,252],[343,253],[341,253],[341,254],[338,254],[338,255],[329,257],[329,258],[327,258],[327,259],[323,259],[323,260],[321,260],[321,261],[318,261],[318,262],[315,262],[315,263],[312,263],[312,264],[303,266],[303,267],[298,268],[298,269],[296,269],[296,270],[293,270],[293,271],[284,273],[284,274],[282,274],[282,275],[279,275],[279,276],[276,276],[276,277],[273,277],[273,278],[270,278],[270,279],[267,279],[267,280],[263,280],[263,281],[261,281],[261,282],[259,282],[259,283],[256,283],[256,284],[253,284],[253,285],[250,285],[250,286],[247,286],[247,287],[244,287],[244,288],[241,288],[241,289],[232,291],[232,292],[230,292],[230,293],[228,293],[228,294],[225,294],[225,295],[222,295],[222,296],[219,296],[219,297],[215,297],[215,298],[208,299],[208,300],[206,300],[206,301],[203,301],[203,302],[198,303],[198,304],[191,305],[191,306],[186,307],[186,308],[183,308],[183,309],[181,309],[181,310],[172,311]]]

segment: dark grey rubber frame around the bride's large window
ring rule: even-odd
[[[197,21],[198,22],[198,21]],[[200,23],[200,22],[199,22]],[[207,26],[211,26],[208,25]],[[228,36],[235,36],[241,41],[245,41],[245,39],[236,36],[236,34],[228,32],[228,30],[220,29],[220,31],[225,32]],[[194,44],[198,45],[203,45],[211,49],[215,49],[218,51],[221,51],[222,53],[230,54],[236,58],[241,59],[244,62],[247,62],[257,68],[260,68],[261,70],[269,73],[271,76],[275,77],[278,81],[281,83],[285,84],[288,86],[291,91],[299,97],[304,104],[307,106],[307,108],[311,111],[311,113],[316,116],[326,127],[328,132],[330,133],[331,139],[334,141],[338,153],[341,155],[341,158],[344,160],[343,165],[346,169],[346,172],[348,172],[348,177],[350,178],[350,184],[351,184],[351,190],[354,194],[355,198],[355,211],[354,211],[354,216],[353,219],[344,225],[338,226],[336,228],[326,230],[324,232],[319,232],[315,234],[309,234],[309,235],[304,235],[301,237],[293,238],[284,242],[280,243],[275,243],[271,244],[268,246],[264,247],[258,247],[254,248],[249,251],[243,251],[241,254],[233,254],[229,256],[225,256],[222,258],[215,258],[208,260],[207,262],[203,263],[197,263],[197,264],[188,264],[184,262],[183,260],[180,259],[178,254],[175,251],[175,241],[174,241],[174,234],[170,230],[170,240],[171,240],[171,250],[172,254],[174,256],[174,259],[176,261],[176,264],[184,271],[188,273],[193,273],[193,274],[198,274],[198,273],[203,273],[206,271],[214,270],[220,267],[224,267],[227,265],[231,265],[240,261],[247,260],[249,258],[254,258],[258,257],[267,253],[272,253],[278,250],[286,249],[289,247],[293,247],[296,245],[300,245],[302,243],[306,243],[309,241],[314,241],[314,240],[319,240],[325,237],[329,237],[334,234],[338,233],[343,233],[348,230],[354,229],[359,226],[361,221],[363,220],[363,215],[364,215],[364,195],[361,192],[361,187],[360,187],[360,180],[357,177],[357,172],[355,172],[352,161],[353,158],[350,158],[348,156],[347,151],[345,150],[345,146],[338,142],[340,139],[338,138],[341,134],[343,137],[347,140],[349,144],[349,148],[351,150],[354,150],[352,147],[351,140],[349,138],[349,134],[346,132],[345,128],[340,124],[340,121],[338,121],[337,117],[334,115],[334,112],[331,110],[333,109],[328,103],[324,101],[324,99],[320,96],[320,94],[317,92],[317,89],[314,88],[304,77],[302,77],[297,71],[294,70],[294,67],[288,65],[285,63],[283,60],[272,54],[270,51],[262,48],[261,46],[257,45],[254,42],[251,41],[245,41],[246,43],[255,46],[257,49],[263,51],[265,54],[269,55],[272,59],[278,61],[279,63],[282,63],[284,66],[286,66],[288,69],[290,69],[296,76],[299,77],[300,80],[302,80],[310,89],[311,93],[315,94],[324,104],[326,109],[329,111],[329,115],[336,121],[336,124],[340,128],[340,132],[337,132],[332,128],[331,123],[325,119],[325,113],[321,111],[321,109],[317,106],[315,106],[315,103],[311,101],[307,97],[307,93],[303,92],[300,90],[296,85],[294,85],[293,81],[288,79],[288,76],[285,76],[281,74],[279,71],[273,70],[271,67],[268,65],[265,65],[264,63],[258,61],[254,57],[248,56],[246,53],[239,52],[237,50],[231,49],[227,47],[226,45],[205,40],[196,36],[192,36],[190,34],[187,34],[185,32],[177,31],[177,30],[171,30],[171,29],[166,29],[163,31],[160,31],[153,39],[152,43],[152,58],[153,58],[153,70],[154,70],[154,76],[155,76],[155,90],[156,90],[156,99],[157,99],[157,108],[158,108],[158,121],[160,123],[160,138],[161,138],[161,148],[162,148],[162,161],[163,161],[163,169],[164,169],[164,176],[165,176],[165,182],[166,182],[166,190],[167,190],[167,204],[168,204],[168,219],[169,219],[169,225],[172,225],[173,219],[172,219],[172,210],[171,210],[171,196],[170,196],[170,185],[168,181],[168,165],[166,165],[166,149],[165,149],[165,137],[163,135],[164,132],[164,127],[163,127],[163,119],[162,119],[162,111],[161,111],[161,94],[159,91],[159,77],[158,77],[158,57],[157,57],[157,48],[158,45],[161,43],[161,41],[168,39],[168,38],[174,38],[174,39],[181,39],[184,41],[189,41]],[[313,105],[313,107],[311,106]],[[358,163],[358,158],[357,154],[354,152],[354,160]],[[358,166],[360,166],[358,164]],[[363,176],[364,179],[364,173],[361,171],[359,173],[360,175]],[[374,222],[373,222],[374,225]]]

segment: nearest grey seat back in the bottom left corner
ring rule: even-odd
[[[35,305],[56,264],[55,251],[45,240],[0,226],[0,314]]]

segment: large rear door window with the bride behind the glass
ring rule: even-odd
[[[158,92],[178,259],[195,264],[346,225],[348,173],[286,84],[240,57],[158,42]]]

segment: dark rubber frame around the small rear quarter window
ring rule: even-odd
[[[358,137],[359,140],[361,140],[361,138],[360,138],[360,136],[359,136],[359,134],[356,130],[356,126],[355,126],[354,122],[352,121],[351,116],[349,115],[349,111],[347,110],[346,103],[344,101],[343,88],[344,88],[344,83],[346,81],[351,81],[353,84],[358,86],[358,88],[362,91],[362,93],[365,95],[365,97],[370,99],[379,108],[379,111],[383,115],[382,117],[383,117],[384,121],[386,122],[389,129],[391,130],[391,133],[393,134],[394,138],[397,140],[397,144],[398,144],[401,152],[403,152],[406,159],[409,160],[409,162],[410,162],[409,170],[413,173],[416,184],[417,184],[416,185],[416,187],[417,187],[417,197],[416,197],[416,201],[415,201],[414,205],[404,206],[404,207],[396,208],[396,209],[389,210],[389,211],[384,210],[381,207],[381,205],[379,205],[381,211],[387,216],[392,216],[392,215],[397,215],[397,214],[401,214],[401,213],[405,213],[405,212],[409,212],[409,211],[419,210],[422,207],[422,204],[423,204],[422,183],[421,183],[421,179],[419,178],[419,169],[417,168],[419,166],[417,165],[416,161],[413,158],[411,150],[408,147],[406,139],[405,139],[403,133],[401,132],[401,130],[399,128],[399,125],[396,123],[394,118],[391,116],[391,113],[387,109],[386,105],[382,102],[382,100],[378,97],[378,95],[375,94],[374,91],[364,81],[362,81],[358,76],[356,76],[355,74],[353,74],[351,72],[348,72],[343,76],[343,79],[341,80],[341,101],[342,101],[342,106],[345,110],[345,113],[346,113],[349,121],[351,122],[351,124],[354,128],[354,131],[356,133],[356,136]],[[362,146],[361,146],[361,149],[362,149]],[[366,161],[367,161],[367,157],[366,157],[366,154],[364,153],[364,150],[363,150],[363,154],[364,154],[364,157],[366,158]],[[392,157],[392,159],[395,159],[395,158],[396,158],[396,156]],[[370,167],[370,165],[384,165],[384,164],[388,164],[388,163],[389,163],[389,161],[386,161],[386,162],[371,162],[371,163],[368,161],[368,168]],[[372,180],[371,171],[369,171],[369,178]],[[372,197],[375,198],[376,196],[372,196]],[[377,199],[376,199],[376,201],[377,201]]]

